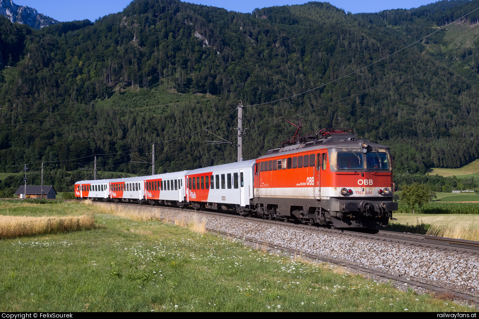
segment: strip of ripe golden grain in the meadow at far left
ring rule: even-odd
[[[0,238],[21,237],[36,234],[55,234],[92,229],[92,214],[66,217],[28,217],[0,215]]]

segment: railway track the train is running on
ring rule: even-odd
[[[112,203],[113,202],[108,202]],[[141,206],[137,203],[121,203],[122,205],[135,205]],[[170,207],[170,206],[157,206],[157,207],[165,207],[173,210],[178,211],[185,211],[185,209],[177,208],[177,207]],[[228,216],[231,218],[238,218],[240,220],[251,220],[254,222],[260,223],[270,223],[276,225],[284,225],[290,227],[298,227],[302,229],[310,229],[313,231],[318,232],[327,232],[331,234],[347,234],[350,236],[362,237],[362,238],[370,238],[370,239],[377,239],[383,240],[387,242],[397,242],[402,244],[408,245],[419,245],[422,247],[431,247],[435,249],[445,249],[445,250],[453,250],[457,252],[465,252],[469,254],[478,254],[479,253],[479,242],[464,240],[464,239],[454,239],[454,238],[446,238],[446,237],[437,237],[437,236],[429,236],[429,235],[421,235],[421,234],[411,234],[411,233],[400,233],[400,232],[388,232],[382,230],[343,230],[343,229],[332,229],[332,228],[325,228],[325,227],[318,227],[318,226],[309,226],[305,224],[299,223],[285,223],[279,221],[271,221],[262,218],[256,217],[243,217],[236,215],[233,212],[225,212],[225,213],[215,213],[209,211],[196,211],[210,215],[217,215],[217,216]]]

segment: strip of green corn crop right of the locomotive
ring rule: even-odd
[[[394,213],[412,213],[412,207],[399,202]],[[479,214],[479,203],[475,202],[428,202],[414,207],[416,214]]]

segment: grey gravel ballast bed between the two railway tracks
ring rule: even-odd
[[[138,209],[138,206],[129,207]],[[476,254],[241,220],[228,214],[218,216],[145,206],[141,210],[169,221],[205,223],[206,228],[215,231],[334,258],[382,273],[413,277],[411,280],[479,297],[479,256]]]

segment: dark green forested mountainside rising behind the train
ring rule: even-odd
[[[308,2],[243,14],[136,0],[38,31],[0,18],[0,170],[41,160],[76,170],[110,154],[98,155],[99,169],[148,174],[130,161],[149,159],[152,142],[160,171],[235,161],[236,148],[208,145],[217,137],[202,128],[236,142],[239,100],[324,84],[244,107],[244,158],[293,135],[276,119],[299,116],[304,133],[350,127],[391,146],[396,174],[460,167],[479,157],[478,7],[351,14]]]

